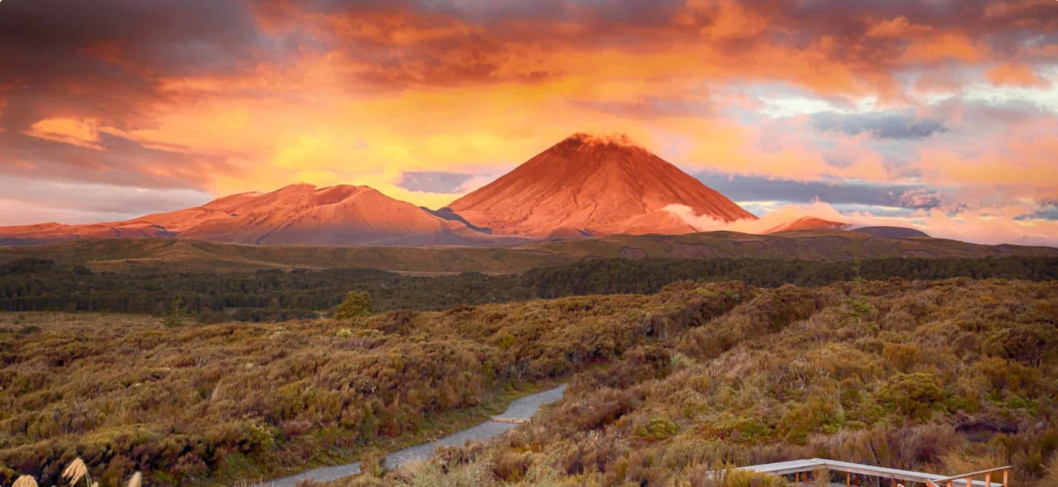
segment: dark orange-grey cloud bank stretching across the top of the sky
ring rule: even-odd
[[[149,124],[145,107],[166,96],[160,78],[238,74],[307,52],[343,53],[354,64],[350,87],[398,90],[539,82],[562,74],[542,61],[572,46],[649,52],[707,40],[803,49],[833,39],[826,56],[887,77],[911,34],[871,33],[896,17],[997,52],[1058,35],[1058,12],[1042,0],[734,3],[762,29],[704,39],[703,29],[726,21],[724,8],[677,0],[8,0],[0,3],[0,98],[8,104],[0,127],[24,128],[57,111],[123,128]]]

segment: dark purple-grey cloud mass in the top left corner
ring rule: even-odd
[[[0,3],[0,127],[41,118],[145,124],[164,77],[233,73],[275,45],[229,0],[30,0]]]

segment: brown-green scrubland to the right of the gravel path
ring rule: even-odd
[[[656,318],[493,444],[332,485],[765,486],[705,473],[813,456],[944,474],[1013,465],[1011,485],[1058,485],[1058,283],[734,292],[738,305],[705,322]]]

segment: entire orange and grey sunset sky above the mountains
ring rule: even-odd
[[[0,225],[437,208],[573,132],[762,217],[1058,245],[1058,1],[0,1]]]

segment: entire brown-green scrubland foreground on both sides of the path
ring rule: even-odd
[[[681,282],[181,327],[2,317],[0,484],[51,485],[74,456],[103,485],[226,484],[377,456],[568,380],[493,444],[339,485],[707,485],[725,463],[811,456],[1058,485],[1053,281]]]

